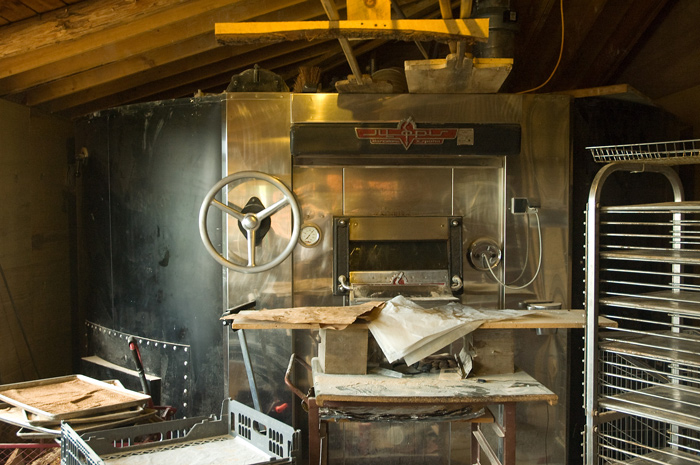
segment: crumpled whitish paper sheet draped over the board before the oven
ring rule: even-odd
[[[530,313],[533,312],[476,310],[458,303],[423,308],[403,296],[396,296],[387,301],[381,311],[373,312],[369,330],[390,363],[403,358],[407,365],[412,365],[487,321]]]

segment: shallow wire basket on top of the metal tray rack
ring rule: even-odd
[[[700,163],[700,139],[650,142],[644,144],[586,147],[597,163],[638,161],[642,163]]]

